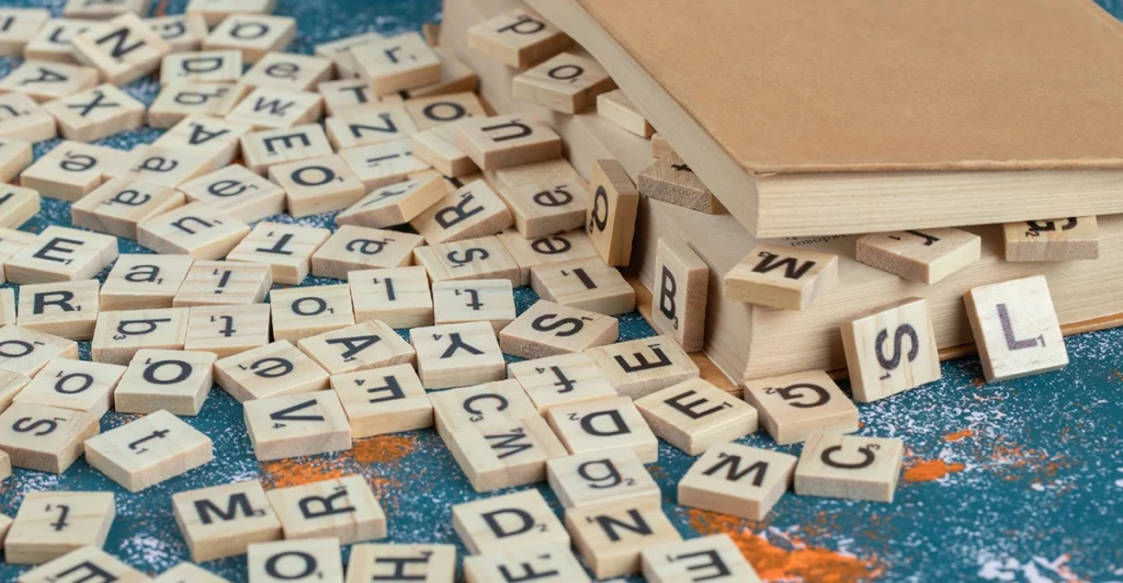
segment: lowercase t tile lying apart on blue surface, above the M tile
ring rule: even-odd
[[[210,437],[166,410],[85,442],[85,461],[130,492],[171,480],[213,459]]]

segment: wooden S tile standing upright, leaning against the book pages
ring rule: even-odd
[[[853,400],[870,402],[940,379],[928,302],[907,298],[839,323]]]

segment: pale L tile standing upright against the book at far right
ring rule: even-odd
[[[1065,337],[1043,276],[974,287],[964,303],[987,382],[1068,364]]]

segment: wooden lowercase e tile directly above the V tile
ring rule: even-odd
[[[287,340],[247,350],[214,363],[214,382],[239,402],[322,391],[328,373]]]

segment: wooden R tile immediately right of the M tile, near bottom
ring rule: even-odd
[[[386,515],[362,475],[276,488],[266,496],[285,538],[336,537],[349,545],[386,537]]]

